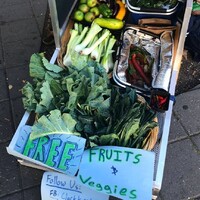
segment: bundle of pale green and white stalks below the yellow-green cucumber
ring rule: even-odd
[[[70,31],[70,40],[63,58],[65,66],[85,67],[88,61],[95,60],[108,72],[113,69],[115,37],[108,29],[93,22],[90,27],[75,23]]]

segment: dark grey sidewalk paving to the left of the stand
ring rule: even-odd
[[[39,200],[43,172],[20,166],[6,151],[24,114],[20,89],[40,51],[47,0],[0,1],[0,199]]]

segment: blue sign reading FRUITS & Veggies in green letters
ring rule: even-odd
[[[95,147],[83,154],[81,184],[121,199],[152,198],[153,152],[124,147]]]

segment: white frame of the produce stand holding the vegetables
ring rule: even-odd
[[[54,54],[52,55],[50,63],[55,63],[58,58],[59,51],[61,49],[61,38],[66,30],[69,17],[74,7],[76,6],[77,0],[75,1],[68,0],[67,2],[64,0],[55,0],[55,1],[48,0],[48,1],[49,1],[52,27],[53,27],[53,32],[54,32],[54,40],[55,40],[55,45],[56,45],[56,49],[54,51]],[[178,36],[179,37],[178,45],[176,48],[177,50],[175,52],[175,59],[174,59],[174,64],[173,64],[171,80],[170,80],[169,93],[171,94],[172,97],[174,97],[174,94],[175,94],[175,87],[176,87],[176,82],[177,82],[178,74],[180,70],[184,42],[185,42],[185,37],[187,33],[188,23],[190,20],[191,10],[192,10],[192,0],[187,0],[184,17],[181,23],[180,34]],[[158,193],[161,189],[161,185],[162,185],[173,104],[174,104],[174,99],[171,98],[169,102],[168,110],[164,113],[158,113],[160,131],[159,131],[158,141],[153,149],[156,155],[156,159],[154,163],[154,183],[153,183],[152,199],[157,198]],[[30,116],[31,116],[30,113],[25,112],[16,132],[18,132],[23,125],[30,124],[30,120],[31,120]],[[21,164],[24,164],[24,165],[44,169],[43,167],[34,165],[27,161],[20,160],[20,162]]]

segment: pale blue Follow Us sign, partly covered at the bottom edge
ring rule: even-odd
[[[109,196],[80,185],[76,177],[45,172],[41,183],[42,200],[108,200]]]

